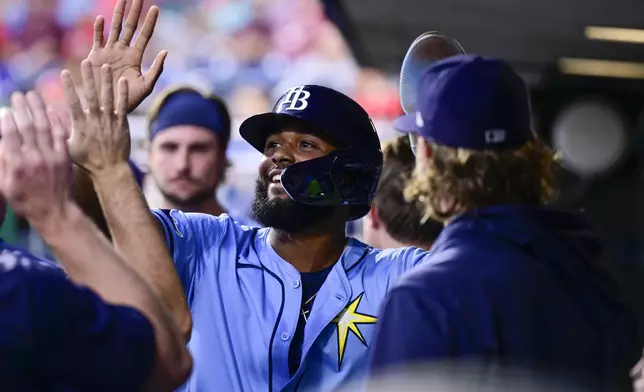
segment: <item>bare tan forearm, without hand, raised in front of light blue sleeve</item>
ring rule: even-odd
[[[114,244],[128,264],[152,285],[182,332],[189,336],[192,319],[181,281],[130,167],[124,163],[93,180]]]

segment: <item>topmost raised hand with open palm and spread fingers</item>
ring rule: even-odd
[[[139,36],[136,38],[134,45],[130,46],[138,27],[143,1],[134,0],[132,2],[124,28],[122,24],[127,0],[117,2],[107,42],[105,42],[103,35],[105,18],[99,15],[94,22],[94,45],[87,56],[96,80],[100,80],[101,67],[107,64],[112,68],[115,81],[121,78],[125,78],[128,81],[128,113],[136,109],[152,93],[154,85],[159,80],[159,76],[161,76],[163,63],[167,56],[165,50],[159,52],[151,68],[143,75],[141,71],[143,53],[150,42],[159,17],[159,8],[156,6],[150,7]],[[121,30],[123,30],[122,34]]]

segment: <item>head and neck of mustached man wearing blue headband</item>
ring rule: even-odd
[[[230,115],[224,102],[194,88],[161,93],[148,115],[150,175],[161,193],[159,208],[220,215]]]

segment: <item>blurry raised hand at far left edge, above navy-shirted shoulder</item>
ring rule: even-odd
[[[0,117],[0,192],[16,214],[45,229],[72,204],[67,132],[35,92],[14,93]]]

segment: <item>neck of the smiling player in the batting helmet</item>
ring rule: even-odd
[[[347,243],[344,224],[298,234],[271,229],[268,239],[275,252],[299,272],[315,272],[335,264]]]

